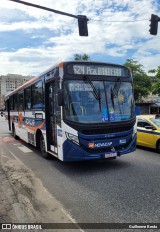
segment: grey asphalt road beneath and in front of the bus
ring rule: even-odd
[[[7,133],[7,122],[0,118],[0,136]],[[138,148],[110,161],[63,163],[43,159],[21,140],[6,141],[5,146],[77,222],[160,222],[160,154],[154,150]]]

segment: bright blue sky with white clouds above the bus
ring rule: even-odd
[[[160,0],[23,0],[86,15],[88,33],[79,36],[76,18],[0,0],[0,76],[38,75],[52,65],[88,54],[90,60],[124,64],[133,59],[145,72],[160,66],[160,22],[149,33]]]

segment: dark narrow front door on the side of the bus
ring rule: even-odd
[[[57,117],[56,117],[56,86],[55,81],[46,83],[45,107],[46,107],[46,134],[47,150],[55,155],[57,152]]]

